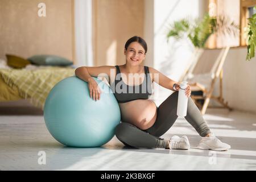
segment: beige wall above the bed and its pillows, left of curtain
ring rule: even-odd
[[[38,4],[46,4],[46,17]],[[1,0],[0,58],[54,54],[73,60],[73,0]]]

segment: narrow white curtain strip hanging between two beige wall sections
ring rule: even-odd
[[[75,0],[76,66],[92,66],[92,0]]]

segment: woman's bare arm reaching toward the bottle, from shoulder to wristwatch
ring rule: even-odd
[[[149,67],[149,72],[152,74],[152,81],[155,81],[157,84],[163,86],[164,88],[175,91],[172,86],[174,86],[174,84],[180,85],[179,82],[176,82],[168,78],[167,76],[163,75],[162,73],[160,73],[154,68]]]

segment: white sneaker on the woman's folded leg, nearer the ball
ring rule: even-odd
[[[183,149],[183,150],[188,150],[190,148],[190,144],[188,141],[188,137],[183,135],[181,138],[178,137],[177,135],[174,135],[169,143],[169,148],[170,149]]]

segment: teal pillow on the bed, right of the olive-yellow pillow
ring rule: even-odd
[[[36,65],[68,66],[73,64],[72,61],[64,57],[54,55],[35,55],[28,57],[27,60]]]

